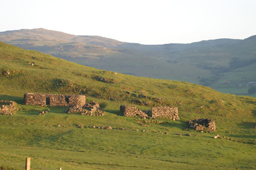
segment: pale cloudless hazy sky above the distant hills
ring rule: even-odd
[[[256,34],[256,0],[2,0],[0,31],[46,28],[142,44]]]

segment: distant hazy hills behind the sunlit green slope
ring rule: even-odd
[[[246,84],[256,81],[254,72],[247,69],[256,67],[255,36],[245,40],[142,45],[39,28],[0,32],[0,41],[94,68],[187,81],[230,94],[250,95]],[[228,86],[226,81],[230,82]]]

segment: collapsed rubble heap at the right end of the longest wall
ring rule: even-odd
[[[90,115],[90,116],[103,116],[105,111],[102,111],[99,108],[99,103],[92,101],[90,103],[85,103],[84,106],[74,106],[70,108],[67,113],[80,113],[81,115]]]

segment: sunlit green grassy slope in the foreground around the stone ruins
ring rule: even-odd
[[[25,157],[32,157],[33,168],[69,170],[256,168],[253,97],[222,94],[188,82],[98,70],[3,42],[0,60],[0,99],[15,100],[19,109],[14,116],[0,115],[0,164],[5,169],[22,169]],[[81,116],[64,113],[67,108],[22,105],[26,92],[85,94],[87,101],[98,101],[107,113]],[[145,123],[124,117],[119,113],[122,104],[140,109],[177,106],[180,121]],[[46,109],[50,112],[37,115]],[[195,118],[214,119],[218,131],[186,129],[186,121]],[[80,123],[84,128],[77,127]],[[94,129],[93,125],[113,130]],[[232,140],[213,139],[217,133]]]

